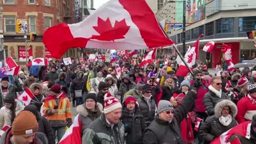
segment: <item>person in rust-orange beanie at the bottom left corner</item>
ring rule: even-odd
[[[21,111],[14,119],[12,127],[2,135],[0,143],[48,144],[48,140],[45,134],[38,132],[36,117],[30,111]]]

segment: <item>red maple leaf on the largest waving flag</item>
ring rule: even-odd
[[[114,41],[115,39],[125,38],[124,35],[130,29],[130,26],[126,25],[125,19],[121,21],[115,21],[115,26],[111,25],[110,19],[106,21],[98,18],[98,26],[93,27],[100,35],[92,35],[91,39],[98,39],[101,41]]]

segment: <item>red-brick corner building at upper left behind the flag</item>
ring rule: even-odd
[[[28,58],[51,58],[42,42],[44,31],[61,22],[74,23],[74,3],[72,0],[2,0],[1,21],[4,35],[4,49],[7,57],[12,57],[20,65],[26,62],[25,34],[16,33],[17,20],[27,21]],[[35,34],[30,41],[29,34]],[[70,49],[65,55],[74,55]]]

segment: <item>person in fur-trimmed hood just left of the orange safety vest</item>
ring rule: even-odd
[[[45,95],[43,94],[43,86],[39,83],[31,84],[29,90],[34,94],[34,98],[30,101],[31,105],[35,105],[37,110],[40,111]]]

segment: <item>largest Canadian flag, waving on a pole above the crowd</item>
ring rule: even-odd
[[[70,47],[134,50],[173,44],[145,0],[110,0],[79,23],[47,29],[43,43],[53,58]]]

